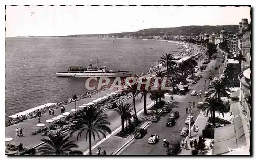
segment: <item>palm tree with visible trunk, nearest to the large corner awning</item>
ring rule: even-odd
[[[212,114],[212,124],[215,128],[215,112],[218,111],[224,117],[226,106],[223,104],[223,101],[217,98],[206,98],[205,103],[202,104],[202,111],[206,111],[206,116],[209,112]]]

